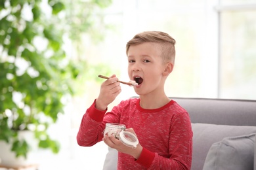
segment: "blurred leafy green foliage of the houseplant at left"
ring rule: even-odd
[[[26,158],[31,148],[26,139],[18,137],[24,130],[33,132],[40,148],[54,153],[60,149],[47,129],[64,113],[63,101],[74,94],[75,79],[82,73],[79,64],[85,63],[68,58],[62,48],[63,35],[75,25],[65,25],[61,18],[65,3],[0,2],[0,141],[11,144],[16,157]],[[92,3],[100,6],[98,1]]]

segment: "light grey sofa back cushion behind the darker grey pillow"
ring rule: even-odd
[[[228,126],[215,124],[192,124],[193,152],[192,170],[203,169],[203,163],[213,143],[225,137],[236,137],[256,133],[256,126]]]

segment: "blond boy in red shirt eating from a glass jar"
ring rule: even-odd
[[[190,169],[192,128],[188,112],[164,92],[167,76],[175,63],[175,40],[167,33],[144,31],[127,42],[128,74],[139,98],[121,101],[111,112],[107,107],[121,92],[112,75],[87,109],[77,133],[80,146],[104,141],[118,151],[117,169]],[[105,114],[106,113],[106,114]],[[111,135],[103,136],[106,123],[125,124],[137,135],[131,148]],[[103,139],[102,139],[103,138]]]

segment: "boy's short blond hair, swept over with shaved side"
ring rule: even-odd
[[[161,48],[161,58],[163,58],[163,62],[172,61],[174,64],[176,41],[173,37],[161,31],[144,31],[142,33],[138,33],[133,37],[133,39],[127,42],[126,54],[128,54],[130,46],[142,44],[143,42],[158,43]]]

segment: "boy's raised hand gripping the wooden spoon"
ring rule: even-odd
[[[100,86],[100,94],[96,99],[96,109],[106,110],[108,105],[116,99],[117,95],[121,93],[120,83],[117,82],[116,75],[110,76],[108,80],[104,81]]]

